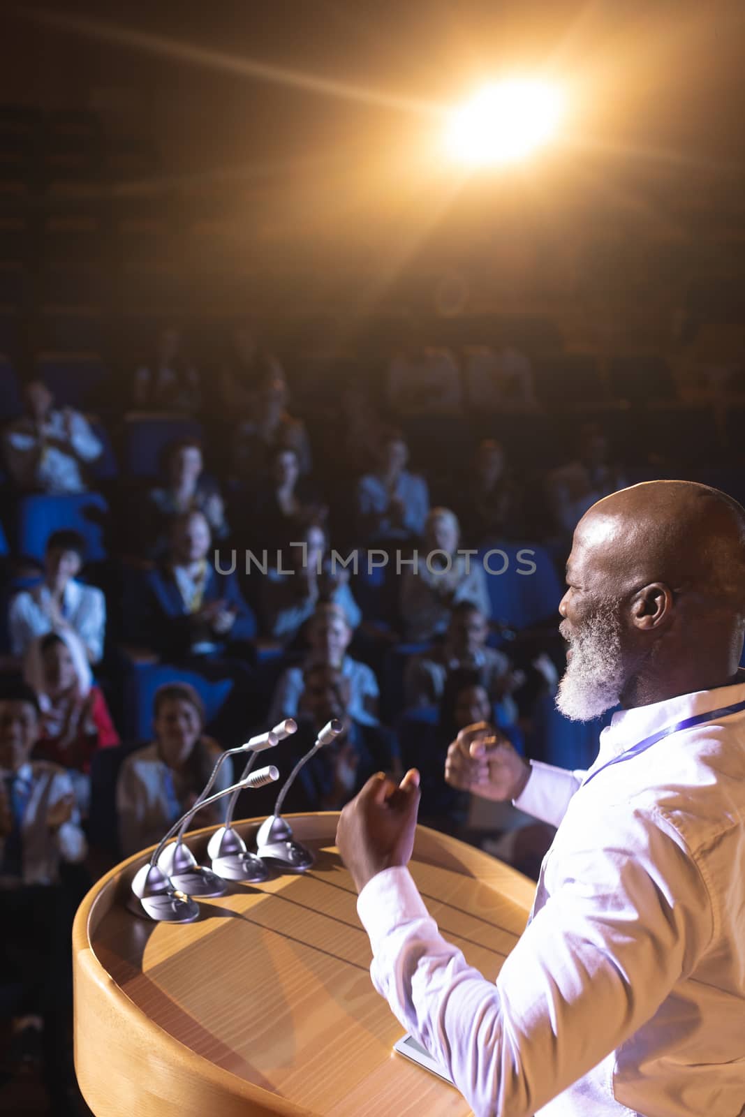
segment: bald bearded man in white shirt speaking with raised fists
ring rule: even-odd
[[[745,1115],[745,510],[650,481],[595,504],[561,602],[557,697],[620,705],[588,772],[526,765],[484,727],[458,787],[558,827],[496,984],[439,934],[411,857],[418,774],[342,812],[372,977],[478,1117]]]

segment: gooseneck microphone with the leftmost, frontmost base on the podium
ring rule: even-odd
[[[212,803],[217,803],[218,799],[230,795],[236,790],[242,791],[245,787],[262,787],[265,784],[274,783],[278,779],[279,772],[270,765],[269,767],[259,768],[258,772],[251,772],[245,780],[240,780],[229,787],[223,787],[222,791],[218,791],[214,795],[203,799],[200,803],[193,803],[182,818],[176,819],[169,832],[164,834],[153,850],[150,860],[141,866],[134,875],[131,885],[132,896],[130,896],[127,903],[130,910],[140,916],[144,914],[157,923],[191,923],[192,919],[195,919],[199,915],[199,905],[197,901],[188,894],[178,889],[171,878],[157,866],[165,843],[173,838],[181,824],[188,822],[202,806],[211,806]]]

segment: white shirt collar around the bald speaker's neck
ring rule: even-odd
[[[605,757],[619,755],[633,745],[652,736],[660,729],[666,729],[677,722],[682,722],[697,714],[707,714],[723,706],[732,706],[745,699],[745,670],[737,671],[737,682],[713,690],[695,690],[687,695],[677,695],[665,701],[651,703],[649,706],[637,706],[633,709],[622,709],[613,714],[611,724],[600,735],[601,754]]]

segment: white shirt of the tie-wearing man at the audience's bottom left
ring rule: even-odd
[[[4,772],[0,770],[0,776]],[[55,885],[59,880],[59,862],[83,861],[88,852],[85,834],[80,829],[77,806],[67,822],[51,831],[47,825],[49,809],[60,799],[73,794],[68,773],[48,761],[27,761],[17,773],[29,785],[29,798],[21,821],[22,875],[0,877],[0,888],[22,885]],[[0,846],[4,839],[0,838]],[[0,850],[1,853],[1,850]]]

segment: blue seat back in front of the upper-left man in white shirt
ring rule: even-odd
[[[86,542],[86,562],[106,557],[108,505],[101,493],[74,496],[25,496],[16,512],[16,550],[27,558],[44,558],[52,532],[73,528]]]

